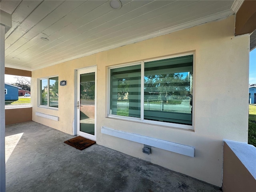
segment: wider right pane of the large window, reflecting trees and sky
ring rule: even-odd
[[[144,119],[192,125],[193,56],[145,62]]]

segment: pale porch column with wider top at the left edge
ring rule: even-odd
[[[0,10],[0,191],[5,192],[4,39],[12,16]]]

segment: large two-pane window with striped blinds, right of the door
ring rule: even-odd
[[[110,68],[109,116],[192,125],[193,55]]]

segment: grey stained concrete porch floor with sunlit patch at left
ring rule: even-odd
[[[6,126],[6,192],[220,192],[189,176],[36,122]]]

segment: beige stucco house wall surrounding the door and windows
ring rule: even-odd
[[[58,75],[68,84],[59,87],[59,108],[37,107],[32,93],[34,121],[72,134],[74,121],[74,71],[97,65],[97,143],[171,170],[222,185],[223,139],[247,142],[249,36],[234,36],[234,16],[100,52],[32,72],[37,78]],[[194,131],[106,118],[107,67],[151,58],[195,52]],[[59,121],[35,115],[59,116]],[[101,134],[101,126],[193,146],[195,157],[158,148],[142,153],[142,144]]]

